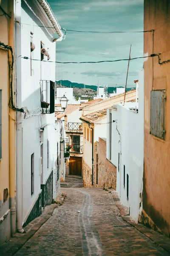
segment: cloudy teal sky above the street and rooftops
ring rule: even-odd
[[[143,31],[143,0],[48,0],[60,26],[85,31]],[[56,43],[56,61],[103,61],[143,56],[143,33],[66,32]],[[125,86],[128,61],[56,64],[56,80]],[[134,87],[143,60],[130,61],[127,87]]]

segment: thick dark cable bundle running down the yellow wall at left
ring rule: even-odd
[[[6,49],[7,54],[8,54],[9,91],[10,91],[10,98],[9,98],[9,102],[8,102],[9,108],[13,109],[14,111],[24,112],[23,108],[15,108],[14,102],[13,102],[12,80],[13,80],[14,55],[13,55],[12,47],[0,42],[0,48]],[[11,52],[11,58],[12,58],[11,64],[9,61],[9,51]]]

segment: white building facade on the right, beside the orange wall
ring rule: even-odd
[[[107,110],[107,159],[117,168],[116,191],[138,222],[142,209],[144,160],[144,80],[139,74],[139,108],[136,102]]]

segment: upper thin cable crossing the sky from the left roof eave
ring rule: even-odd
[[[40,26],[40,25],[33,25],[33,24],[28,24],[28,23],[21,23],[19,21],[15,21],[16,23],[19,23],[21,25],[27,25],[27,26],[38,26],[38,27],[43,27],[43,28],[48,28],[48,29],[54,29],[54,27],[51,26]],[[64,29],[61,27],[61,30],[64,31],[70,31],[70,32],[82,32],[82,33],[104,33],[104,34],[108,34],[108,33],[145,33],[145,32],[152,32],[153,29],[151,30],[146,30],[146,31],[85,31],[85,30],[73,30],[73,29]]]

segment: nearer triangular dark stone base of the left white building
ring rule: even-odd
[[[42,192],[40,192],[40,195],[38,196],[37,201],[35,202],[30,214],[28,215],[26,222],[23,224],[23,227],[25,227],[28,223],[34,220],[34,218],[37,218],[41,214],[42,214]]]

